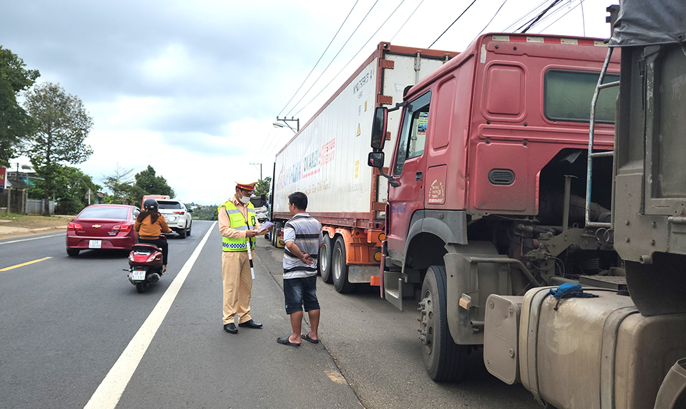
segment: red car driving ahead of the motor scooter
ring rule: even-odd
[[[67,254],[93,248],[130,250],[138,233],[133,225],[141,210],[126,205],[91,205],[67,226]]]

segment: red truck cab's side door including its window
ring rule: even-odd
[[[405,106],[403,126],[397,138],[398,144],[390,168],[391,176],[399,182],[399,185],[388,187],[391,214],[387,240],[388,249],[399,253],[405,251],[412,214],[424,207],[426,171],[424,148],[427,141],[430,102],[431,91],[428,91]]]

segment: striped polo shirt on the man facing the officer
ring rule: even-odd
[[[283,278],[296,279],[316,275],[319,244],[324,242],[322,224],[307,213],[298,213],[283,226],[283,241],[295,242],[302,253],[307,253],[314,259],[314,265],[308,266],[284,248]]]

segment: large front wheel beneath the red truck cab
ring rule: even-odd
[[[453,341],[446,314],[445,267],[431,266],[424,277],[420,305],[420,339],[424,342],[424,367],[436,382],[464,377],[468,345]]]

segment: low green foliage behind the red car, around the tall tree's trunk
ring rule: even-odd
[[[45,180],[35,180],[35,185],[29,188],[29,198],[42,199],[45,197]],[[93,178],[84,174],[76,167],[56,166],[54,172],[54,196],[56,199],[55,213],[77,214],[88,206],[88,189],[91,189],[91,204],[95,201],[96,193],[102,187],[93,182]]]

